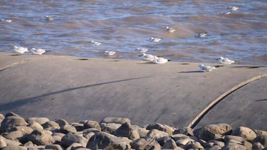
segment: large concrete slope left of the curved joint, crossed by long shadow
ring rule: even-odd
[[[187,126],[229,88],[267,73],[238,65],[200,73],[197,63],[8,55],[0,53],[0,60],[31,60],[0,72],[0,112],[69,121],[117,116],[139,125]]]

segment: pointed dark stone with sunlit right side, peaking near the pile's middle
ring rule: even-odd
[[[137,130],[134,130],[131,127],[131,124],[128,122],[123,123],[115,132],[114,135],[117,137],[126,137],[130,140],[136,140],[139,139],[139,134]]]

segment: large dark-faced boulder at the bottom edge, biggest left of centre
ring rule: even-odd
[[[97,150],[97,149],[116,149],[116,150],[126,150],[130,149],[130,146],[122,140],[114,135],[105,133],[105,132],[97,132],[93,135],[88,144],[88,149]]]

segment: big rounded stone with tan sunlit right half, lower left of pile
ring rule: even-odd
[[[32,141],[34,144],[40,145],[50,145],[55,142],[53,137],[45,130],[34,130],[29,136],[27,136],[28,141]]]

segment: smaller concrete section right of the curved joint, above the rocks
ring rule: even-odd
[[[267,78],[261,78],[234,91],[216,105],[199,122],[208,124],[228,123],[267,130]]]

